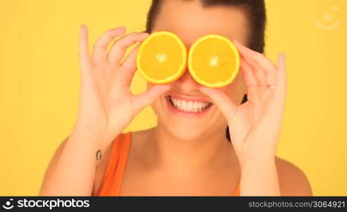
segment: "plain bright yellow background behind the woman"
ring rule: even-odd
[[[278,155],[305,171],[315,195],[347,195],[347,1],[266,2],[267,55],[274,60],[284,51],[288,59]],[[1,1],[0,195],[37,195],[51,155],[73,127],[80,24],[90,28],[92,45],[119,25],[144,30],[149,6],[147,0]],[[334,19],[324,22],[324,12]],[[341,25],[322,30],[317,20]],[[132,88],[145,89],[138,74]],[[155,123],[147,108],[126,130]]]

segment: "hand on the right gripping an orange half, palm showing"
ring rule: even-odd
[[[236,104],[218,88],[200,86],[224,114],[241,169],[248,164],[274,162],[286,99],[284,54],[278,65],[263,54],[235,42],[248,101]]]

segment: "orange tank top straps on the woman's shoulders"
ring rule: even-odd
[[[131,132],[120,134],[113,142],[109,161],[97,196],[120,196],[121,184],[130,150]],[[240,184],[231,196],[240,196]]]

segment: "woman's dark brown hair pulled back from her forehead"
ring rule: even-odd
[[[152,0],[150,11],[147,16],[146,32],[151,33],[154,20],[157,17],[160,6],[164,0]],[[265,27],[267,23],[266,7],[264,0],[200,0],[203,6],[226,5],[243,8],[248,16],[250,30],[248,47],[256,52],[263,53],[265,47]],[[241,104],[247,102],[247,95],[244,95]],[[229,126],[226,127],[226,139],[231,141]]]

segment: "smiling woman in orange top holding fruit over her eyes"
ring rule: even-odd
[[[90,56],[82,26],[78,119],[52,158],[40,195],[311,195],[303,172],[275,156],[285,62],[284,54],[277,65],[261,54],[265,19],[262,0],[153,1],[148,33],[171,31],[188,48],[202,35],[229,37],[241,54],[241,72],[216,89],[200,86],[185,71],[173,83],[149,83],[140,95],[129,88],[138,47],[123,57],[148,34],[108,30]],[[148,105],[157,126],[121,134]]]

